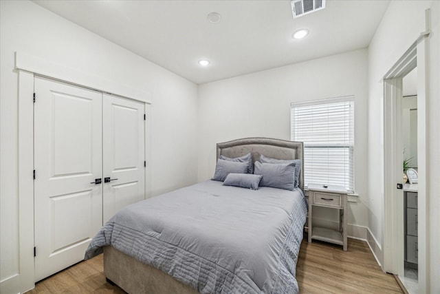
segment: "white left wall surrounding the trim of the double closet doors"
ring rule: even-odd
[[[0,281],[20,271],[14,52],[151,93],[152,195],[197,181],[197,85],[31,1],[0,1],[0,46]]]

